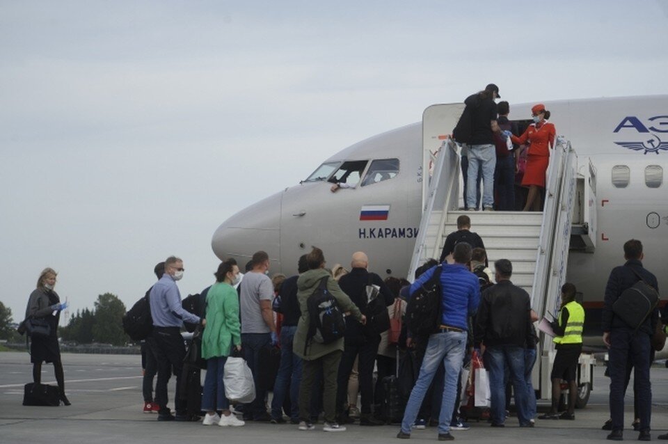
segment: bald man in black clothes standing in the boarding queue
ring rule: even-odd
[[[358,358],[358,378],[362,395],[360,425],[384,425],[371,414],[374,402],[374,363],[381,333],[390,328],[390,315],[386,307],[395,303],[395,296],[376,273],[369,273],[369,258],[361,251],[353,254],[350,273],[341,276],[339,286],[358,308],[366,315],[367,324],[363,326],[352,317],[346,317],[346,335],[343,355],[337,376],[336,406],[340,416],[339,423],[348,422],[346,402],[348,379]],[[367,286],[377,288],[374,300],[369,301]],[[386,319],[385,319],[386,318]],[[386,326],[385,326],[386,320]]]

